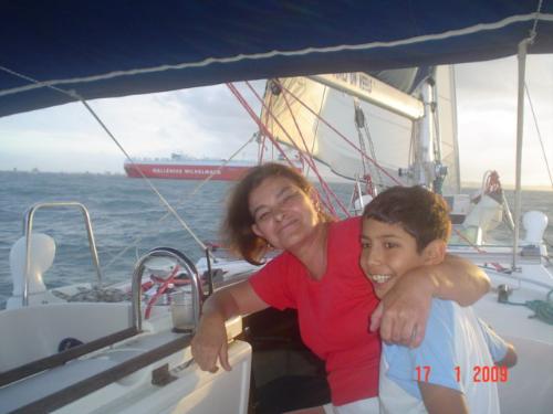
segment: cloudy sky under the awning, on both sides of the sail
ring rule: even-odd
[[[456,66],[461,178],[498,170],[514,182],[517,61]],[[262,82],[253,83],[258,91]],[[526,84],[553,168],[553,55],[530,56]],[[255,98],[241,86],[259,113]],[[225,85],[93,100],[91,106],[132,157],[228,158],[255,125]],[[530,107],[525,109],[523,184],[552,188]],[[239,158],[255,158],[253,145]],[[124,156],[81,104],[0,118],[0,170],[123,172]],[[553,173],[553,171],[552,171]]]

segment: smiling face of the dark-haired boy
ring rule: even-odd
[[[404,274],[426,264],[425,251],[417,253],[414,236],[400,224],[363,220],[361,267],[383,298]]]

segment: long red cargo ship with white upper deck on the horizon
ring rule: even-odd
[[[293,162],[298,169],[302,169],[298,159],[294,159]],[[170,158],[125,161],[124,169],[127,177],[131,178],[142,178],[144,174],[147,178],[205,180],[212,176],[211,180],[237,181],[246,171],[257,164],[255,160],[197,159],[173,153]]]

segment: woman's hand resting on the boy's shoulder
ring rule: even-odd
[[[371,331],[380,328],[386,342],[416,348],[422,342],[436,289],[424,269],[404,275],[382,299],[371,317]]]

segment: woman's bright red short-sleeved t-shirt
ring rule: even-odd
[[[334,405],[378,392],[380,340],[368,332],[378,299],[359,266],[359,217],[330,224],[321,280],[288,252],[250,277],[253,290],[268,305],[298,309],[303,342],[326,362]]]

